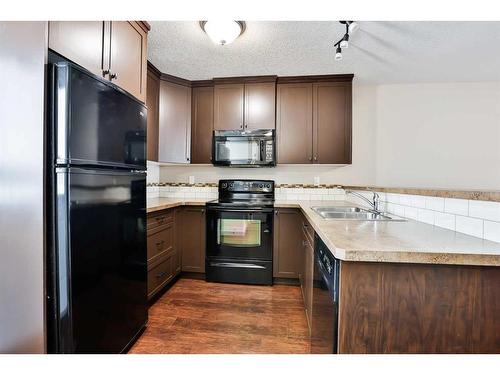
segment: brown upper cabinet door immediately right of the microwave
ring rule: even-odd
[[[312,84],[278,85],[278,163],[312,162]]]

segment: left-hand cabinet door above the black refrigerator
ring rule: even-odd
[[[49,48],[102,77],[103,21],[50,21]]]

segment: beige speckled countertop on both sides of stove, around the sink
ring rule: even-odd
[[[148,199],[147,212],[182,205],[204,205],[211,199]],[[314,206],[353,206],[340,201],[276,201],[276,208],[298,208],[338,259],[358,262],[395,262],[500,266],[500,243],[435,227],[414,220],[325,220]]]

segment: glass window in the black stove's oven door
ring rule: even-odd
[[[260,220],[219,219],[217,244],[233,247],[260,246]]]

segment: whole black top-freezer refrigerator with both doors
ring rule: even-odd
[[[148,317],[147,110],[54,56],[47,90],[47,351],[122,353]]]

